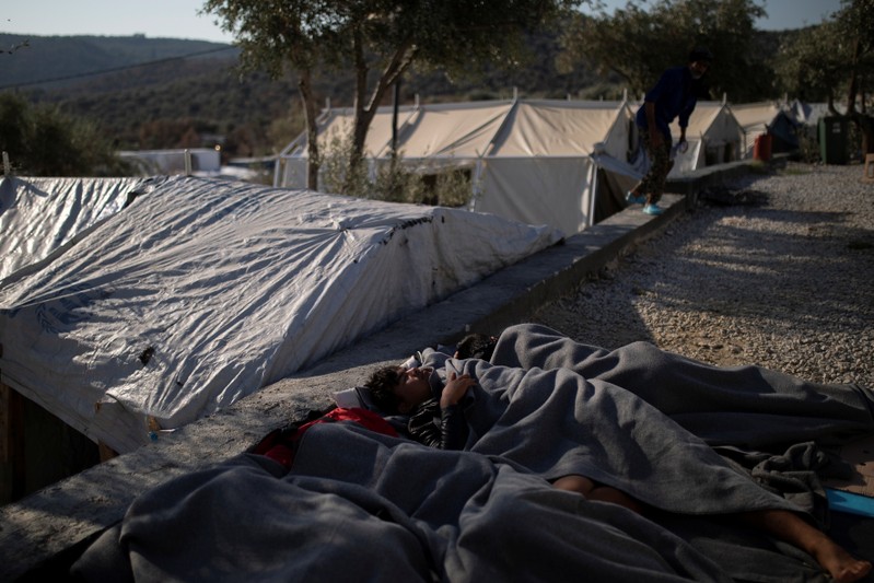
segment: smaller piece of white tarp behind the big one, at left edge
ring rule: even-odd
[[[120,211],[141,182],[0,177],[0,280]]]

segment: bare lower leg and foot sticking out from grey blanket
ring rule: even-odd
[[[859,581],[871,572],[871,562],[852,557],[825,533],[785,510],[744,512],[746,524],[765,530],[811,553],[840,583]]]

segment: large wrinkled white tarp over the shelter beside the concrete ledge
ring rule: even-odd
[[[2,381],[119,452],[560,238],[490,214],[224,180],[141,190],[0,289]]]

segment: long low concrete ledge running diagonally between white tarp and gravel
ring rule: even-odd
[[[686,197],[699,187],[695,179],[684,182]],[[660,217],[643,214],[637,206],[626,209],[226,410],[0,508],[0,580],[63,578],[82,550],[118,523],[140,493],[220,464],[269,431],[302,419],[310,410],[325,409],[333,392],[360,383],[375,366],[399,362],[426,346],[455,341],[467,330],[498,333],[524,322],[539,306],[574,292],[590,275],[687,208],[676,194],[665,195],[663,206],[666,210]]]

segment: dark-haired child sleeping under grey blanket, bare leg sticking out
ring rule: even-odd
[[[475,384],[469,374],[450,373],[442,387],[432,387],[433,370],[384,366],[374,371],[364,386],[377,407],[387,415],[408,415],[411,439],[438,448],[461,450],[468,428],[462,400]],[[582,494],[587,500],[610,502],[637,513],[643,505],[626,492],[598,483],[586,476],[568,475],[552,486]],[[794,545],[814,557],[836,581],[859,581],[872,571],[872,563],[851,556],[824,532],[786,510],[755,510],[727,516]]]

